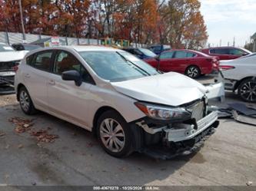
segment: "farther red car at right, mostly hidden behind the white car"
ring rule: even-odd
[[[251,54],[251,51],[235,47],[214,47],[202,49],[201,51],[204,52],[204,54],[218,57],[220,60],[232,60]]]

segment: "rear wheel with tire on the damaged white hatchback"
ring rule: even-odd
[[[36,113],[37,110],[35,109],[32,99],[28,94],[28,90],[25,87],[21,87],[18,91],[18,100],[22,111],[25,114],[32,115]]]

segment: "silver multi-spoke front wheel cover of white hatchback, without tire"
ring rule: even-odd
[[[107,118],[101,122],[100,138],[104,146],[113,153],[118,153],[125,147],[125,132],[114,119]]]

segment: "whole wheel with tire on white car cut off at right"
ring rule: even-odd
[[[256,102],[256,80],[245,79],[238,86],[238,95],[247,102]]]

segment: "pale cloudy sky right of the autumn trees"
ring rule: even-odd
[[[256,32],[256,0],[199,0],[211,46],[243,47]]]

